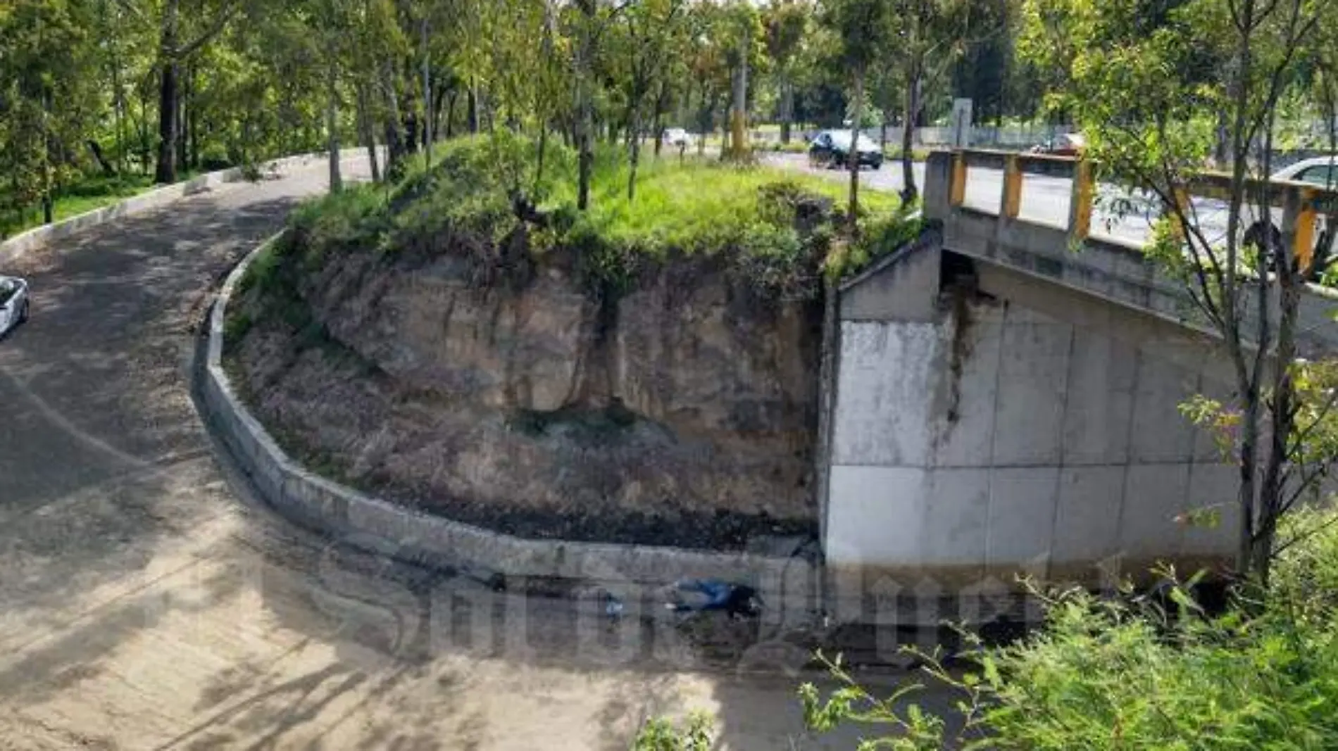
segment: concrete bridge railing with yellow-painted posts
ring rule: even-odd
[[[1069,215],[1066,230],[1070,242],[1082,242],[1092,234],[1092,207],[1096,196],[1093,164],[1085,159],[1054,156],[1049,154],[1026,154],[995,151],[987,148],[967,148],[938,151],[931,159],[951,159],[949,171],[947,203],[953,208],[966,202],[966,182],[969,167],[990,167],[1004,171],[1002,192],[997,206],[999,222],[1014,222],[1022,211],[1022,175],[1044,174],[1072,180]],[[1311,183],[1294,180],[1250,179],[1246,184],[1251,203],[1266,191],[1268,204],[1282,211],[1280,226],[1284,242],[1302,261],[1306,269],[1313,261],[1315,230],[1321,215],[1338,214],[1338,190],[1326,190]],[[930,192],[926,190],[926,192]],[[1204,171],[1196,175],[1176,194],[1180,202],[1191,198],[1228,200],[1231,195],[1231,175]]]

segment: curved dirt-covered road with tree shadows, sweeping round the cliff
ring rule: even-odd
[[[226,186],[5,269],[33,305],[0,341],[0,748],[626,748],[688,708],[728,748],[818,747],[791,678],[348,553],[249,498],[191,404],[193,327],[324,174]]]

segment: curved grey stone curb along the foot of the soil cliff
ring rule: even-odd
[[[375,498],[297,465],[242,405],[222,366],[229,298],[252,261],[280,237],[252,251],[229,274],[210,313],[207,354],[198,377],[202,378],[199,392],[206,422],[260,496],[281,516],[376,555],[490,577],[500,573],[574,580],[614,592],[666,585],[686,577],[719,577],[752,584],[768,609],[779,607],[796,617],[816,609],[819,571],[804,557],[527,540]]]

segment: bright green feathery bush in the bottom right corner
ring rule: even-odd
[[[945,669],[921,655],[934,682],[954,687],[966,724],[943,724],[907,703],[915,688],[875,699],[834,667],[843,687],[800,691],[818,730],[844,722],[888,726],[867,747],[1070,751],[1318,750],[1338,738],[1338,512],[1290,516],[1271,587],[1222,615],[1195,600],[1196,579],[1157,596],[1107,597],[1081,589],[1042,597],[1041,631],[1008,647],[966,635],[971,667]]]

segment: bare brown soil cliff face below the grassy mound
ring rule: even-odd
[[[392,253],[306,243],[234,303],[229,358],[321,472],[531,537],[815,531],[816,254],[796,286],[729,253],[594,275],[526,226]]]

